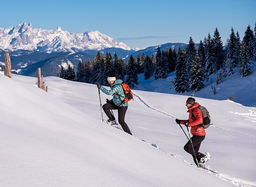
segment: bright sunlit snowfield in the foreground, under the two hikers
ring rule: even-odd
[[[214,174],[190,165],[183,150],[187,139],[175,118],[188,118],[187,96],[134,90],[130,136],[101,122],[96,85],[44,81],[48,93],[36,78],[0,73],[1,186],[256,186],[256,108],[196,98],[214,123],[200,148],[210,151]]]

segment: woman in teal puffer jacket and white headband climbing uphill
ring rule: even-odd
[[[111,110],[118,111],[118,122],[122,126],[123,130],[132,135],[128,125],[124,121],[125,113],[128,109],[128,102],[123,103],[122,101],[125,98],[125,94],[123,91],[123,87],[120,83],[123,81],[121,79],[116,79],[116,75],[114,73],[110,73],[109,77],[107,78],[109,84],[111,85],[111,89],[107,90],[105,87],[97,85],[97,87],[107,95],[113,95],[112,100],[107,99],[107,103],[102,106],[105,114],[108,116],[108,120],[106,121],[107,124],[113,125],[116,124],[115,117],[113,116]]]

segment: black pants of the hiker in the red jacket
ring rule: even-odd
[[[191,137],[192,144],[194,146],[194,150],[196,153],[196,158],[195,158],[195,153],[193,151],[193,147],[192,147],[190,140],[188,140],[188,143],[184,145],[184,150],[192,155],[196,165],[197,165],[197,162],[199,162],[200,159],[205,156],[203,153],[199,152],[201,142],[204,140],[204,138],[205,138],[205,136],[197,136],[197,135],[194,135],[193,137]],[[196,159],[197,159],[197,162],[196,162]]]

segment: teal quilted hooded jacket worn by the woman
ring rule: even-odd
[[[117,79],[115,81],[115,84],[111,85],[111,89],[107,90],[105,87],[100,86],[100,90],[107,95],[113,95],[115,93],[117,93],[118,95],[113,95],[113,99],[110,100],[111,102],[114,102],[114,104],[118,107],[126,107],[128,106],[128,102],[127,103],[122,103],[122,101],[125,98],[125,94],[124,94],[124,90],[123,87],[120,85],[120,83],[122,83],[123,81],[121,79]],[[122,103],[122,104],[121,104]]]

